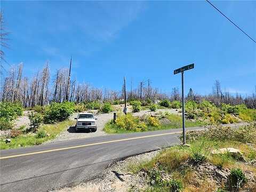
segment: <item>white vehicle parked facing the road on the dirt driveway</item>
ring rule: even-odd
[[[97,125],[94,118],[94,115],[91,113],[79,113],[76,119],[76,132],[78,130],[90,130],[92,132],[97,131]]]

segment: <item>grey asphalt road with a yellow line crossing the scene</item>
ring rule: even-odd
[[[47,191],[91,180],[118,159],[179,143],[181,131],[115,134],[1,150],[0,191]]]

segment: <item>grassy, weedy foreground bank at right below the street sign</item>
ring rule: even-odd
[[[250,126],[243,129],[248,127],[251,129]],[[225,138],[225,131],[214,131],[218,130],[211,130],[211,134],[199,132],[200,137],[189,135],[193,138],[188,138],[190,147],[173,146],[162,150],[150,161],[129,165],[130,171],[135,174],[142,170],[146,172],[148,186],[141,191],[253,191],[256,168],[250,162],[255,161],[255,141]],[[243,135],[242,138],[250,137]],[[246,162],[228,152],[211,153],[214,149],[226,147],[241,150]],[[174,181],[177,184],[174,186],[178,188],[172,188]]]

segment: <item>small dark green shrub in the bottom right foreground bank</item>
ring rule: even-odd
[[[230,170],[230,175],[228,178],[228,187],[230,189],[239,189],[243,187],[246,182],[247,178],[241,169],[236,168]]]

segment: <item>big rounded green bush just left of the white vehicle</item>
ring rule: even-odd
[[[75,105],[72,102],[52,103],[46,107],[44,122],[55,123],[67,119],[75,110]]]

